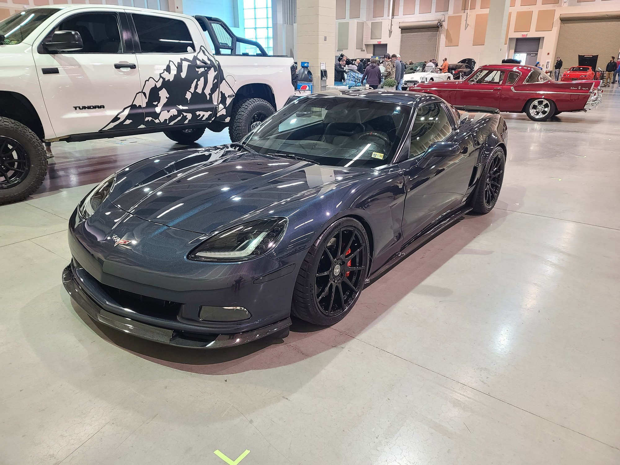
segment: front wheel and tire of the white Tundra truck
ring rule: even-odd
[[[47,174],[41,139],[27,126],[0,117],[0,205],[24,200]]]

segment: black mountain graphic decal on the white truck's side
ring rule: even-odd
[[[197,68],[209,64],[211,68]],[[216,101],[219,92],[219,101]],[[233,97],[229,97],[233,95]],[[231,116],[234,91],[224,79],[221,66],[205,47],[192,58],[169,61],[157,76],[144,82],[131,105],[123,108],[102,131],[151,126],[210,122]],[[215,114],[214,114],[215,113]]]

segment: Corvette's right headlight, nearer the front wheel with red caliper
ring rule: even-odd
[[[241,262],[266,254],[284,236],[286,218],[266,218],[239,224],[209,237],[187,255],[205,262]]]

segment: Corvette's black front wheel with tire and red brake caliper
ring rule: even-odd
[[[325,229],[301,264],[293,314],[318,325],[345,317],[360,297],[370,264],[368,235],[359,221],[342,218]]]

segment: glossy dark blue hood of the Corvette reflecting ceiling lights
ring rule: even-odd
[[[205,150],[200,153],[205,154]],[[229,150],[225,156],[170,171],[151,174],[113,203],[154,223],[208,233],[255,210],[311,188],[337,183],[361,170]],[[278,215],[277,206],[270,210]]]

